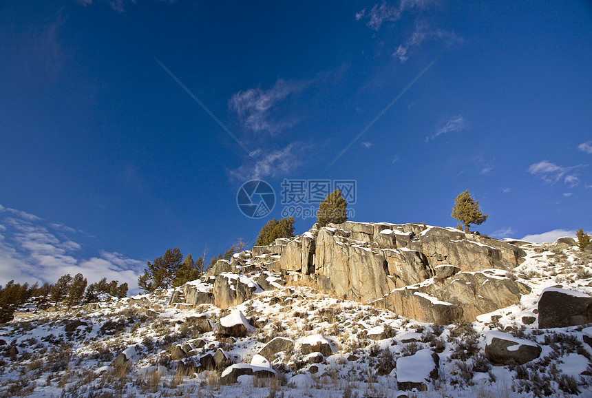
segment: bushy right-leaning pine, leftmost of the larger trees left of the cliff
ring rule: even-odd
[[[156,289],[169,289],[182,260],[183,255],[178,248],[168,249],[165,255],[156,258],[154,263],[147,263],[144,274],[138,278],[138,286],[147,293]]]

